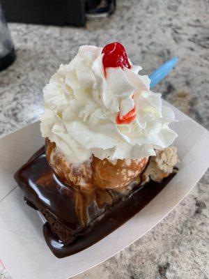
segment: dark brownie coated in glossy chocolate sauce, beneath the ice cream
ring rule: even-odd
[[[47,163],[44,148],[17,171],[15,179],[24,190],[27,203],[42,213],[53,234],[63,241],[64,245],[83,234],[104,211],[125,196],[97,188],[90,198],[88,193],[62,183]],[[102,202],[102,197],[107,195],[111,200],[109,204]],[[78,202],[80,204],[77,204]],[[80,216],[86,218],[81,220]]]

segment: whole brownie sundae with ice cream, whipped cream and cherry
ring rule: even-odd
[[[43,89],[45,148],[15,174],[57,257],[91,246],[176,174],[175,116],[120,43],[79,47]]]

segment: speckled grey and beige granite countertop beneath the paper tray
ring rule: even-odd
[[[154,91],[209,128],[208,9],[207,0],[118,0],[114,15],[86,29],[9,24],[17,60],[0,73],[0,135],[38,119],[42,87],[79,45],[116,40],[144,73],[178,56],[176,69]],[[139,241],[76,278],[208,278],[208,181],[209,172]],[[6,278],[1,267],[0,278]]]

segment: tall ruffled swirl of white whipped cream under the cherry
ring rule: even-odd
[[[169,128],[173,111],[162,105],[161,94],[149,89],[140,66],[107,68],[102,48],[79,47],[68,65],[61,65],[43,89],[42,137],[56,143],[70,163],[92,155],[109,160],[155,156],[154,149],[172,144],[177,134]],[[116,122],[135,107],[129,124]]]

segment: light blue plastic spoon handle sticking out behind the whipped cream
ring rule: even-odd
[[[169,75],[173,67],[178,61],[177,57],[173,57],[171,60],[163,63],[157,70],[154,70],[153,73],[149,75],[151,80],[150,88],[153,88],[157,83],[159,83],[164,77]]]

